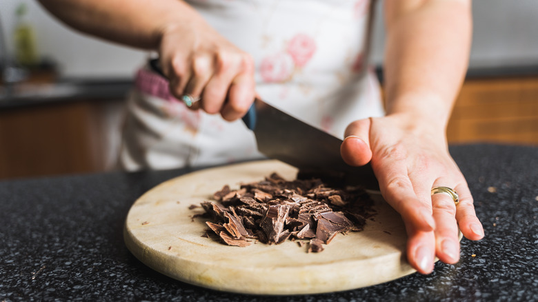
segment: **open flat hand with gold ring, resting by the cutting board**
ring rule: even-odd
[[[420,121],[404,114],[355,121],[346,129],[341,155],[350,165],[371,161],[381,194],[406,225],[408,261],[428,274],[435,256],[459,261],[458,226],[471,240],[484,237],[484,230],[466,180],[448,153],[444,128]],[[456,190],[459,204],[446,194],[431,196],[435,186]]]

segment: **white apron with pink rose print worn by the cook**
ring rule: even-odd
[[[383,115],[375,75],[361,73],[368,0],[188,2],[252,55],[264,101],[339,138],[351,121]],[[241,120],[229,123],[140,91],[128,104],[121,152],[128,170],[261,157]]]

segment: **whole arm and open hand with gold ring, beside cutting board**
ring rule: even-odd
[[[472,240],[484,231],[467,183],[448,154],[446,125],[468,63],[469,0],[386,0],[386,108],[346,130],[342,157],[372,162],[383,197],[408,232],[408,260],[431,272],[434,256],[459,261],[458,225]],[[455,188],[455,206],[433,186]]]

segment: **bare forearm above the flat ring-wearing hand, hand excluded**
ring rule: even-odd
[[[386,0],[387,114],[444,130],[468,66],[470,1]]]

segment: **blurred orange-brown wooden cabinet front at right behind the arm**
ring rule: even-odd
[[[447,138],[449,143],[538,145],[538,77],[467,80]]]

